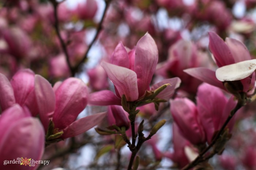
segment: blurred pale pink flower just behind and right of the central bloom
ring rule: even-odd
[[[199,51],[191,41],[179,40],[169,48],[168,59],[159,63],[156,73],[165,78],[177,76],[181,79],[181,89],[196,93],[200,80],[186,74],[183,70],[193,67],[208,67],[208,55]]]

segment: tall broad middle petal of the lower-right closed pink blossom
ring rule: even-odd
[[[199,86],[197,91],[198,116],[206,132],[208,143],[211,143],[212,135],[218,130],[226,103],[227,99],[219,88],[207,83]]]

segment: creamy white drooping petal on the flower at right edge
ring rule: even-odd
[[[256,59],[223,66],[216,70],[218,80],[234,81],[241,80],[251,75],[256,70]]]

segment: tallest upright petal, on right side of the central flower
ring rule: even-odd
[[[150,34],[146,33],[137,43],[135,50],[134,71],[138,79],[139,97],[149,88],[158,62],[157,44]],[[132,100],[131,100],[132,101]]]

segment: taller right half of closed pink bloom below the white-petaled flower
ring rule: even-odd
[[[207,142],[211,143],[215,131],[221,129],[230,111],[236,106],[234,96],[227,100],[222,90],[203,83],[197,91],[198,117],[206,134]],[[228,124],[229,131],[233,129],[235,118]]]

